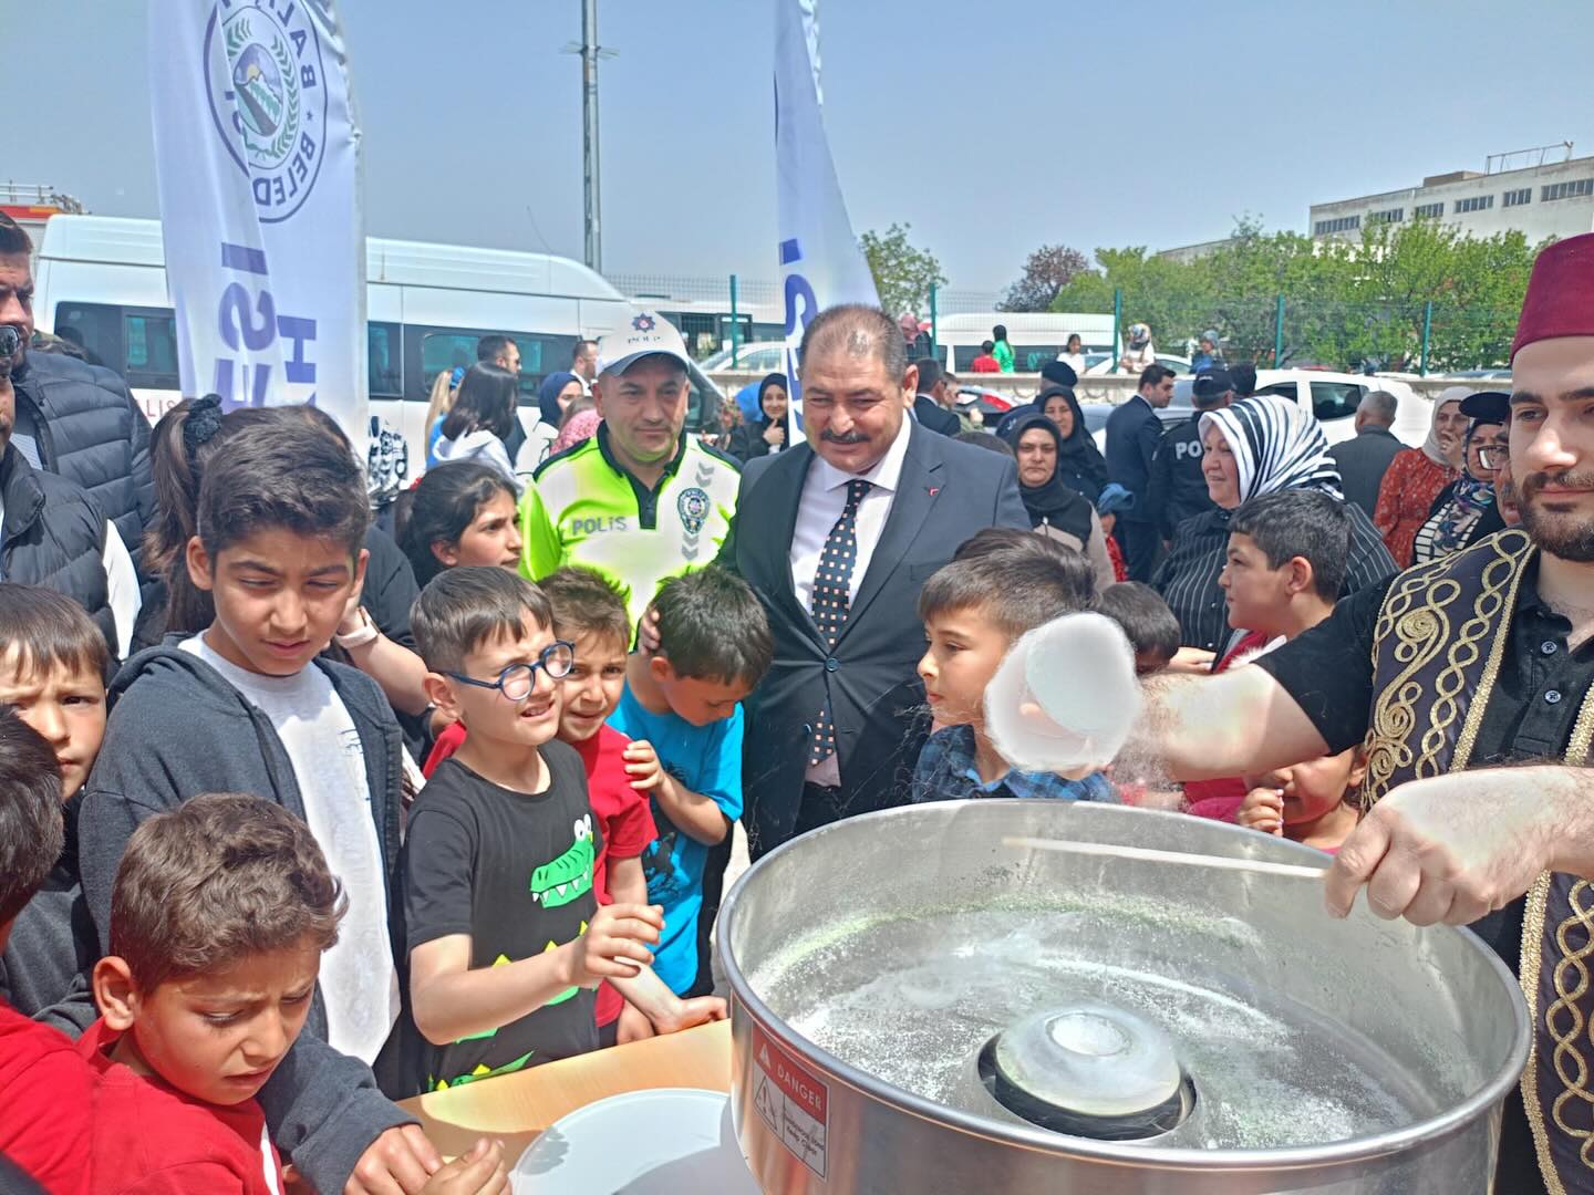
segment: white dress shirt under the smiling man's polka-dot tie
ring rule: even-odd
[[[896,440],[886,454],[862,473],[843,473],[821,456],[815,456],[808,467],[808,476],[797,500],[797,527],[792,532],[791,567],[792,588],[797,591],[797,602],[805,609],[813,609],[813,577],[819,570],[819,556],[824,553],[824,542],[830,537],[830,527],[842,518],[846,508],[846,483],[869,481],[872,489],[858,503],[856,537],[858,562],[853,566],[853,577],[846,586],[848,602],[858,601],[858,588],[862,585],[869,562],[874,559],[875,547],[886,527],[886,516],[891,515],[891,502],[896,497],[902,480],[902,457],[907,456],[907,440],[913,432],[913,421],[902,419]],[[818,717],[819,711],[813,711]],[[810,784],[834,786],[842,782],[842,773],[832,754],[821,763],[808,768],[803,778]]]

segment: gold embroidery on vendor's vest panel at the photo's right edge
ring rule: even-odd
[[[1594,742],[1594,687],[1591,687],[1583,695],[1583,706],[1578,709],[1578,720],[1572,727],[1572,739],[1567,742],[1565,763],[1573,768],[1584,766],[1589,754],[1589,746]],[[1533,887],[1527,894],[1527,907],[1522,913],[1522,959],[1519,967],[1519,981],[1522,985],[1522,996],[1527,999],[1527,1021],[1532,1026],[1532,1036],[1529,1037],[1527,1050],[1527,1066],[1522,1071],[1522,1106],[1527,1112],[1527,1125],[1533,1131],[1533,1150],[1538,1154],[1538,1170],[1545,1179],[1545,1185],[1549,1195],[1567,1195],[1565,1185],[1561,1182],[1561,1176],[1556,1171],[1554,1160],[1549,1152],[1549,1128],[1545,1123],[1545,1109],[1538,1099],[1538,978],[1543,958],[1543,938],[1545,938],[1545,918],[1549,905],[1549,884],[1551,873],[1543,872],[1538,880],[1533,881]],[[1567,1083],[1567,1090],[1556,1098],[1551,1107],[1553,1120],[1556,1128],[1572,1138],[1581,1138],[1583,1144],[1578,1149],[1578,1157],[1583,1160],[1584,1166],[1594,1170],[1594,1160],[1591,1160],[1591,1147],[1594,1147],[1594,1138],[1591,1138],[1584,1130],[1575,1130],[1565,1123],[1561,1115],[1561,1109],[1565,1101],[1573,1095],[1583,1099],[1591,1099],[1588,1093],[1588,1076],[1589,1068],[1578,1053],[1576,1047],[1572,1045],[1581,1029],[1581,1013],[1576,1010],[1570,1001],[1575,1001],[1583,994],[1588,986],[1588,970],[1583,966],[1583,958],[1594,950],[1594,927],[1591,927],[1589,945],[1583,950],[1575,951],[1575,958],[1565,958],[1565,929],[1572,921],[1583,921],[1584,927],[1589,927],[1589,916],[1576,903],[1580,891],[1588,889],[1586,881],[1578,881],[1578,884],[1567,895],[1567,903],[1573,910],[1573,916],[1562,921],[1556,929],[1556,945],[1562,953],[1562,961],[1556,964],[1556,1001],[1545,1009],[1545,1029],[1553,1039],[1556,1039],[1556,1050],[1553,1055],[1553,1064],[1556,1066],[1556,1074],[1562,1082]],[[1568,993],[1565,988],[1564,975],[1567,966],[1575,966],[1580,974],[1580,989]],[[1567,1034],[1561,1034],[1551,1025],[1551,1018],[1556,1017],[1562,1009],[1570,1009],[1573,1013],[1573,1029]],[[1581,1072],[1581,1082],[1576,1085],[1567,1080],[1562,1071],[1562,1063],[1565,1055],[1570,1053]]]

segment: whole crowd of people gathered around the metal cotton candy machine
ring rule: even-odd
[[[0,323],[32,333],[27,249],[0,217]],[[864,306],[807,325],[800,427],[771,374],[728,453],[689,433],[685,347],[639,314],[540,381],[528,435],[489,336],[438,374],[391,524],[314,408],[204,397],[151,432],[113,374],[24,343],[0,1085],[29,1099],[0,1104],[0,1177],[502,1190],[501,1146],[445,1165],[395,1101],[724,1018],[736,827],[757,860],[910,801],[1318,848],[1334,913],[1364,886],[1471,924],[1567,1048],[1545,1010],[1586,1002],[1554,977],[1594,876],[1589,277],[1594,236],[1548,249],[1513,394],[1441,394],[1414,449],[1382,392],[1329,449],[1216,336],[1164,427],[1149,330],[1105,451],[1068,360],[971,429],[918,320]],[[1135,653],[1125,758],[1154,766],[1025,771],[987,733],[1012,644],[1082,610]],[[1508,1109],[1497,1190],[1591,1189],[1586,1133],[1545,1111],[1584,1093],[1568,1074]]]

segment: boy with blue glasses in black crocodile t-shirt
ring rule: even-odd
[[[663,916],[593,894],[587,774],[555,741],[575,653],[547,596],[450,569],[411,623],[427,695],[469,730],[416,800],[403,859],[406,1004],[440,1090],[598,1048],[593,989],[646,972]]]

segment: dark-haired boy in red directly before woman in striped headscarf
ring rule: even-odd
[[[1218,577],[1235,637],[1211,671],[1247,664],[1328,618],[1349,559],[1350,513],[1342,500],[1318,489],[1282,489],[1240,505],[1229,519],[1229,554]],[[1184,784],[1191,813],[1224,822],[1235,819],[1247,792],[1240,776]]]

